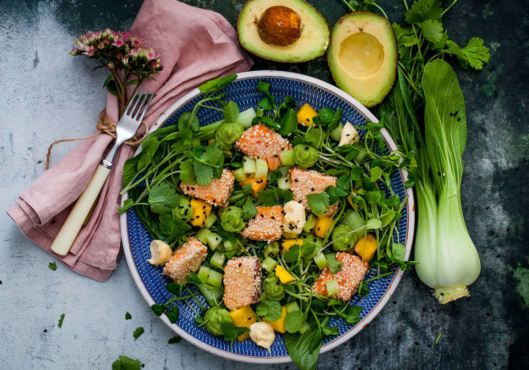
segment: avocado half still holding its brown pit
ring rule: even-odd
[[[309,61],[329,46],[329,25],[303,0],[248,0],[237,29],[243,48],[272,61]]]

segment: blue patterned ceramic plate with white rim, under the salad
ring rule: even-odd
[[[309,103],[316,110],[322,107],[331,107],[333,110],[338,109],[338,107],[342,108],[342,122],[349,121],[353,125],[360,126],[364,125],[366,121],[377,122],[375,116],[366,107],[358,103],[352,96],[342,92],[342,90],[324,81],[290,72],[255,71],[238,74],[238,78],[225,88],[224,92],[226,95],[224,99],[236,101],[241,111],[249,107],[256,108],[258,101],[262,98],[262,94],[256,90],[256,86],[262,80],[271,83],[270,92],[277,97],[278,101],[282,101],[284,96],[290,95],[299,105]],[[160,116],[153,128],[156,130],[156,128],[162,126],[176,124],[180,114],[192,110],[201,96],[202,94],[198,89],[193,90]],[[217,110],[202,109],[198,113],[198,119],[200,123],[207,125],[222,119],[222,113]],[[363,138],[364,130],[359,131],[360,136]],[[386,152],[396,150],[395,143],[384,129],[382,129],[382,134],[386,141]],[[402,209],[402,218],[398,227],[398,238],[401,243],[406,245],[407,259],[413,240],[415,206],[413,203],[413,192],[411,192],[411,189],[404,189],[403,184],[406,179],[407,173],[405,171],[396,172],[391,177],[391,186],[395,194],[398,194],[401,200],[408,195],[406,205]],[[125,201],[126,198],[127,195],[125,194],[122,201]],[[126,214],[121,216],[121,234],[129,269],[148,305],[161,304],[172,298],[172,295],[165,289],[167,278],[162,275],[162,268],[147,263],[147,258],[150,257],[149,244],[152,238],[141,225],[140,220],[138,220],[132,209],[129,209]],[[380,312],[382,307],[386,305],[400,282],[401,276],[402,271],[398,269],[393,276],[369,282],[370,291],[367,298],[358,298],[356,296],[351,300],[352,305],[364,307],[360,314],[362,320],[355,325],[348,324],[342,318],[331,320],[330,325],[338,327],[340,334],[326,337],[321,351],[325,352],[333,349],[366,327]],[[371,277],[373,277],[373,274],[370,272],[366,278]],[[200,298],[203,304],[207,305],[203,297],[200,296]],[[200,312],[194,300],[189,299],[187,303],[194,307],[195,311]],[[160,317],[161,320],[185,340],[205,349],[205,351],[224,358],[244,362],[280,363],[290,361],[281,335],[276,337],[270,353],[262,349],[262,347],[258,347],[251,340],[234,342],[233,347],[230,348],[229,343],[222,338],[211,336],[205,329],[197,327],[194,323],[196,314],[184,302],[179,300],[178,307],[180,309],[180,318],[178,318],[176,324],[169,322],[165,315]]]

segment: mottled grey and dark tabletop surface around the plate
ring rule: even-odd
[[[242,0],[187,0],[236,21]],[[310,1],[331,25],[340,0]],[[380,1],[392,20],[400,1]],[[0,1],[0,209],[39,176],[48,144],[92,134],[105,104],[104,72],[68,55],[87,30],[126,29],[137,1]],[[468,117],[462,197],[481,276],[471,298],[439,306],[412,271],[359,335],[321,356],[318,369],[527,369],[529,363],[529,17],[524,1],[459,1],[444,17],[455,41],[485,39],[490,63],[458,71]],[[255,69],[291,70],[331,81],[326,60]],[[74,145],[74,144],[72,144]],[[72,145],[61,144],[52,162]],[[449,232],[449,231],[447,231]],[[72,273],[0,214],[0,369],[110,369],[119,355],[145,369],[293,369],[240,364],[187,342],[148,309],[122,258],[105,283]],[[125,321],[125,311],[132,320]],[[57,320],[65,314],[62,329]],[[145,327],[134,341],[132,331]],[[443,333],[438,345],[433,345]]]

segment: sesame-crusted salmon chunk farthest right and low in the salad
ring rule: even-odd
[[[343,263],[342,271],[338,271],[333,276],[329,267],[325,267],[318,280],[314,283],[312,290],[327,296],[325,282],[336,279],[338,280],[338,293],[329,297],[338,298],[343,301],[350,300],[358,284],[360,284],[366,275],[369,265],[366,261],[362,261],[362,258],[343,251],[338,252],[335,256],[336,260]]]

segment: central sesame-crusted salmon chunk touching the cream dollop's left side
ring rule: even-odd
[[[283,234],[283,207],[257,207],[257,215],[249,220],[247,227],[240,232],[244,238],[262,241],[279,240]]]

